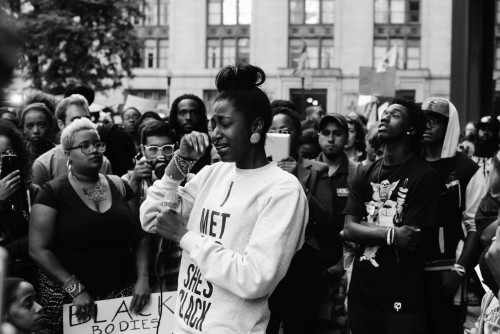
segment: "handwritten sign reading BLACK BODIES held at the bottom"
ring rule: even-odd
[[[65,334],[173,334],[175,329],[176,292],[152,293],[149,304],[141,313],[129,310],[132,297],[96,301],[97,316],[78,322],[76,307],[63,307],[63,330]],[[161,319],[160,319],[161,312]]]

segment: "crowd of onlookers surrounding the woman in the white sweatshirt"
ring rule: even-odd
[[[32,92],[19,110],[0,109],[0,156],[17,157],[0,178],[0,246],[19,277],[7,281],[7,305],[29,298],[36,321],[8,318],[28,331],[61,333],[65,303],[84,320],[94,300],[132,295],[139,312],[151,291],[178,288],[182,249],[144,232],[139,209],[181,139],[211,136],[214,120],[184,94],[168,117],[128,107],[104,124],[89,111],[93,99],[76,87],[60,100]],[[396,98],[372,124],[286,100],[271,107],[269,132],[291,138],[277,165],[302,185],[309,217],[305,243],[270,296],[267,333],[413,333],[415,315],[431,333],[463,333],[467,305],[484,294],[473,268],[486,263],[497,233],[499,120],[485,116],[462,131],[453,104],[437,97]],[[406,123],[392,126],[398,118]],[[220,161],[218,150],[210,144],[182,184]],[[488,305],[494,274],[486,274]],[[479,326],[495,325],[485,312]]]

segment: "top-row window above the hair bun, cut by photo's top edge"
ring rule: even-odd
[[[252,0],[208,0],[208,25],[247,25],[252,22]]]

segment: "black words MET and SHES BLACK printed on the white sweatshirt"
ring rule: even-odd
[[[220,211],[220,210],[219,210]],[[229,213],[203,208],[200,219],[200,232],[213,237],[218,244],[226,231],[226,224],[231,217]],[[178,316],[184,323],[200,332],[203,331],[203,322],[207,318],[212,303],[213,285],[205,280],[200,268],[194,263],[187,267],[186,279],[179,288]]]

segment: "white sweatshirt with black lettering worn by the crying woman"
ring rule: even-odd
[[[154,232],[158,207],[173,192],[189,230],[180,241],[176,333],[265,333],[269,295],[304,242],[299,181],[273,164],[217,163],[185,187],[165,175],[141,206],[145,231]]]

